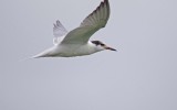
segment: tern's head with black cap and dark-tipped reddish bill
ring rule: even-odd
[[[104,50],[116,51],[115,48],[105,45],[101,41],[92,41],[92,44],[95,45],[97,51],[104,51]]]

